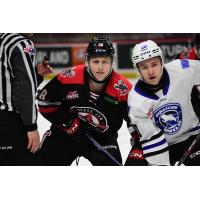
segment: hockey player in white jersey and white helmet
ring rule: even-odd
[[[133,66],[141,78],[128,97],[129,116],[141,148],[133,146],[126,165],[174,165],[200,132],[191,104],[191,91],[200,84],[200,61],[175,60],[165,64],[161,48],[148,40],[136,44]],[[137,154],[136,154],[137,153]],[[184,165],[200,165],[200,145]]]

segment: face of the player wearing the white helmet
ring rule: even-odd
[[[159,58],[150,58],[138,63],[138,70],[144,81],[150,85],[157,85],[163,73]]]

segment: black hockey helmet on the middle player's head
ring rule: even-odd
[[[115,49],[112,42],[108,38],[93,38],[86,50],[86,59],[89,60],[92,56],[109,56],[113,59]]]

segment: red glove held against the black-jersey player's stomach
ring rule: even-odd
[[[67,134],[73,135],[75,134],[80,127],[80,120],[78,118],[74,118],[68,125],[62,124],[61,128]]]

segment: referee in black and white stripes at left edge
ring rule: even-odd
[[[37,165],[33,34],[0,34],[0,165]]]

